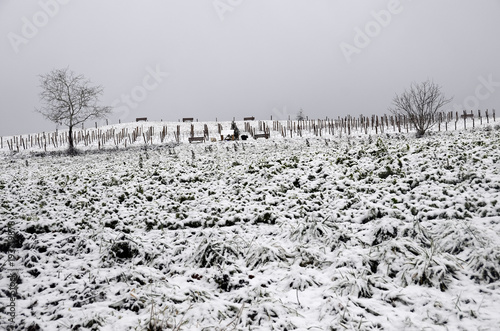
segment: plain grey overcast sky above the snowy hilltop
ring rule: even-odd
[[[55,129],[38,75],[64,67],[110,123],[384,114],[427,79],[500,117],[500,0],[0,0],[0,35],[0,136]]]

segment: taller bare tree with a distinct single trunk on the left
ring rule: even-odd
[[[68,127],[70,154],[76,152],[73,127],[89,119],[105,117],[112,109],[97,105],[103,93],[101,86],[91,86],[90,80],[76,75],[69,68],[54,69],[40,75],[40,87],[43,106],[36,111],[52,122]]]

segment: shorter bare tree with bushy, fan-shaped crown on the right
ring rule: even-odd
[[[453,98],[446,99],[441,92],[441,86],[427,80],[423,83],[412,83],[409,90],[396,95],[392,100],[394,115],[406,115],[421,137],[436,123],[436,114],[441,107]]]

